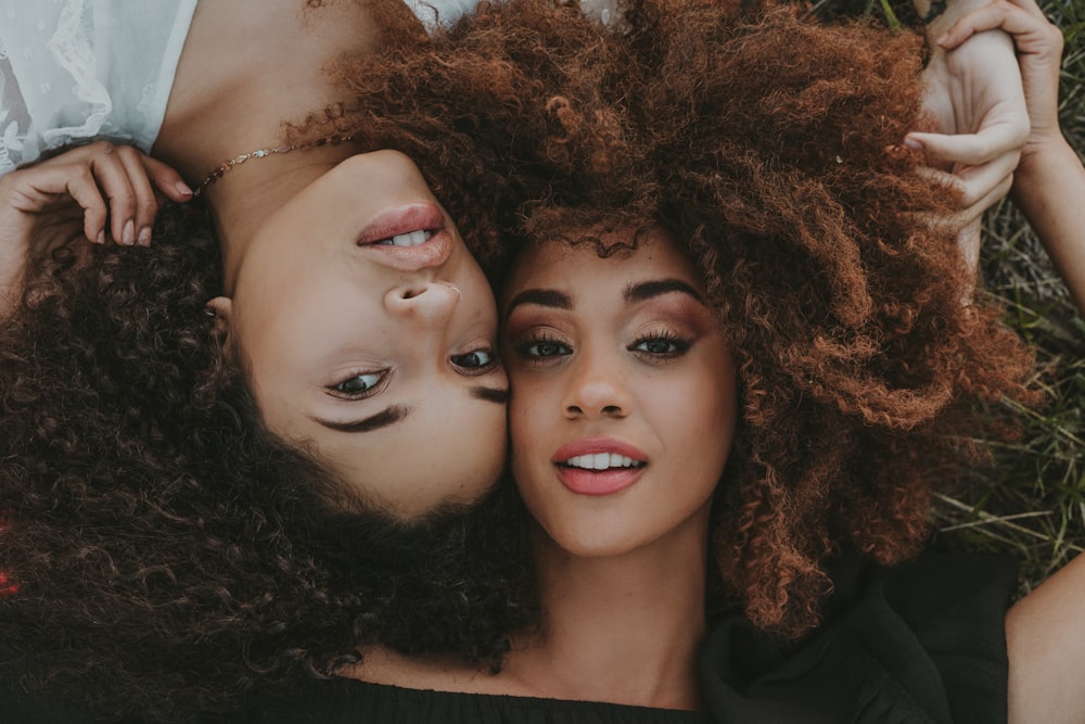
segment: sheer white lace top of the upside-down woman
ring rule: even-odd
[[[477,0],[405,0],[432,30]],[[604,23],[614,0],[583,5]],[[105,138],[150,151],[196,0],[0,0],[0,176]]]

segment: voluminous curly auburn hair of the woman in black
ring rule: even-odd
[[[511,0],[393,45],[339,67],[335,128],[416,158],[498,283],[523,244],[599,224],[660,225],[700,264],[742,397],[713,529],[730,600],[796,636],[827,556],[918,551],[976,403],[1031,397],[1030,353],[916,214],[956,201],[898,147],[926,124],[918,36],[709,0],[634,0],[608,29]]]

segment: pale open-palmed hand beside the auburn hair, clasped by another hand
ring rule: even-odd
[[[974,266],[983,212],[1009,191],[1029,136],[1013,43],[983,33],[952,51],[935,46],[924,75],[924,105],[941,132],[912,132],[905,143],[939,160],[933,181],[960,192],[960,213],[948,221],[962,229],[959,241]]]

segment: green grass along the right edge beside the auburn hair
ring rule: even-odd
[[[1065,38],[1059,111],[1063,132],[1081,155],[1085,2],[1039,2]],[[825,17],[872,15],[891,26],[915,21],[909,0],[804,4]],[[1046,391],[1049,402],[1033,410],[1006,404],[991,409],[993,424],[1009,416],[1019,422],[1020,436],[996,443],[978,431],[976,441],[990,452],[991,463],[974,469],[954,494],[940,496],[932,516],[950,547],[1006,552],[1021,561],[1023,594],[1085,550],[1085,320],[1008,200],[984,219],[981,265],[987,293],[1006,306],[1007,323],[1035,348],[1034,384]]]

